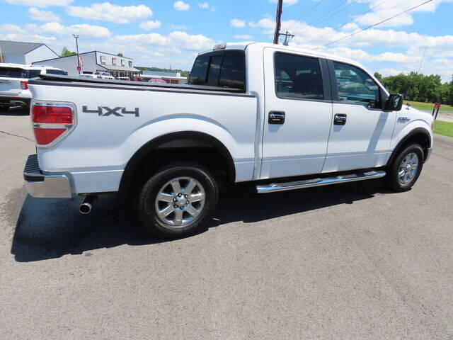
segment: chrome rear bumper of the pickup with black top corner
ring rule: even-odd
[[[28,193],[35,198],[72,198],[68,177],[64,174],[42,174],[36,154],[28,156],[23,179]]]

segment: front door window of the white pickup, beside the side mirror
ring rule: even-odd
[[[338,101],[380,108],[379,86],[362,69],[333,62],[338,86]]]

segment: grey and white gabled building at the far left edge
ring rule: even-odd
[[[38,42],[0,40],[1,62],[31,65],[38,60],[58,57],[47,45]]]

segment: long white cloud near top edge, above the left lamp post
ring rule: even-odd
[[[66,9],[70,16],[79,16],[91,20],[111,21],[113,23],[132,23],[143,21],[153,15],[151,8],[145,5],[117,6],[110,2],[91,4],[88,7],[69,6]]]

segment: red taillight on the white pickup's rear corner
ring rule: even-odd
[[[30,111],[36,144],[39,146],[55,144],[75,126],[75,109],[72,104],[33,101]]]

